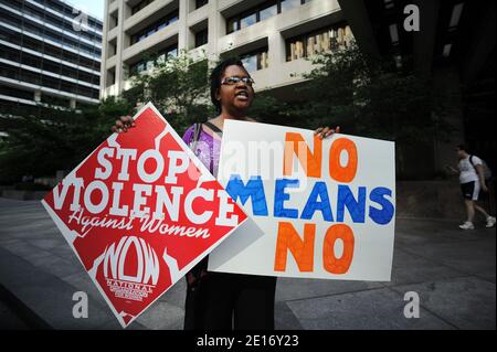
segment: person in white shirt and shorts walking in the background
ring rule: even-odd
[[[488,192],[485,180],[484,162],[478,157],[469,154],[467,150],[468,149],[464,145],[457,146],[457,158],[459,159],[457,169],[447,166],[448,170],[459,174],[461,190],[463,192],[464,204],[466,206],[467,217],[466,221],[459,225],[459,227],[463,230],[475,228],[475,210],[485,216],[487,222],[486,227],[494,227],[496,224],[496,218],[490,216],[482,206],[476,204],[480,190]]]

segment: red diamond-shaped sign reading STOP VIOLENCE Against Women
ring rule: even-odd
[[[42,201],[125,328],[246,220],[152,104]]]

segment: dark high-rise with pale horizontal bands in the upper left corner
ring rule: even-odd
[[[0,107],[98,104],[103,23],[61,0],[0,0]]]

